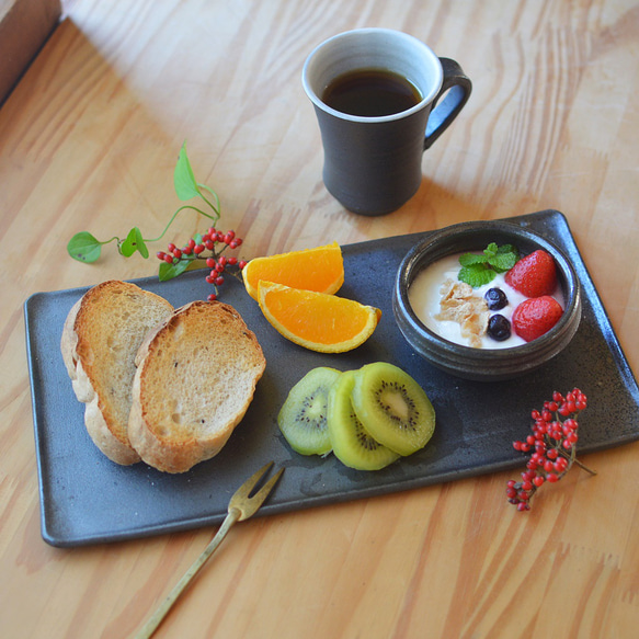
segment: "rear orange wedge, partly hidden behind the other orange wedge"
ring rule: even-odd
[[[344,283],[344,261],[338,242],[315,249],[255,258],[242,270],[247,292],[258,299],[260,279],[293,288],[336,293]]]

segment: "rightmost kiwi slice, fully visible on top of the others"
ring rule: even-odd
[[[351,399],[370,436],[400,455],[412,455],[433,435],[433,404],[422,387],[392,364],[376,362],[360,368]]]

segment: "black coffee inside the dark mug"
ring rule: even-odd
[[[355,69],[338,76],[322,94],[324,104],[349,115],[377,117],[412,109],[422,95],[410,80],[386,69]]]

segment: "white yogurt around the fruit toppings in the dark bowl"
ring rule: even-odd
[[[435,316],[441,312],[440,300],[442,299],[442,295],[440,288],[448,278],[457,282],[457,275],[460,270],[460,254],[461,253],[448,255],[418,273],[409,287],[408,297],[415,315],[429,329],[449,342],[467,346],[469,345],[468,340],[461,336],[461,326],[458,322],[435,319]],[[494,278],[489,284],[473,288],[473,294],[478,297],[483,297],[483,294],[489,288],[501,288],[505,293],[509,304],[501,310],[491,310],[489,312],[491,316],[498,313],[503,315],[509,321],[511,321],[515,308],[527,298],[525,295],[522,295],[509,286],[504,281],[504,275],[505,273],[495,274]],[[555,290],[552,297],[557,299],[561,305],[561,308],[566,308],[559,286],[557,288],[558,290]],[[487,334],[481,338],[482,349],[510,349],[525,343],[526,342],[520,338],[514,330],[511,330],[511,336],[503,342],[493,340]]]

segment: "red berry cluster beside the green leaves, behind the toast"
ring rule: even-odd
[[[206,260],[209,272],[205,279],[215,287],[215,293],[208,296],[208,300],[214,301],[219,294],[218,287],[224,284],[224,274],[237,276],[247,265],[244,260],[222,254],[227,249],[237,249],[241,243],[241,238],[236,237],[235,231],[224,233],[210,227],[205,235],[191,238],[181,249],[170,243],[167,251],[158,251],[157,255],[159,260],[172,265],[183,261]],[[205,251],[209,251],[209,254],[205,254]]]

